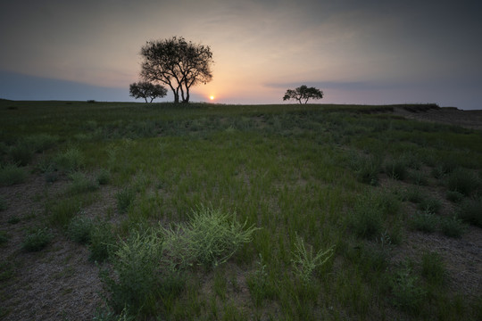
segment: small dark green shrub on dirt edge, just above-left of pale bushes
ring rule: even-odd
[[[103,262],[109,259],[115,249],[115,235],[111,224],[105,221],[98,221],[92,226],[90,232],[89,258],[92,261]]]

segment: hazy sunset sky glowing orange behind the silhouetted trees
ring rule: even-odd
[[[307,85],[314,103],[482,109],[481,14],[465,0],[2,0],[0,98],[134,101],[141,47],[177,36],[213,53],[191,101],[286,103]]]

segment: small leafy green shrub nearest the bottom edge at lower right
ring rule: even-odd
[[[409,312],[418,311],[426,296],[426,292],[418,284],[419,278],[412,275],[408,264],[395,271],[390,280],[395,306]]]

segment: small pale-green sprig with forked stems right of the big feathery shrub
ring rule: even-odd
[[[310,284],[314,270],[323,266],[333,256],[333,248],[334,246],[327,251],[318,251],[316,255],[313,255],[312,249],[306,250],[303,239],[296,235],[295,251],[292,253],[294,259],[291,262],[295,269],[295,275],[304,285]]]

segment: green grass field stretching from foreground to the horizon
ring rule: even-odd
[[[482,319],[482,132],[395,107],[0,101],[0,316]]]

